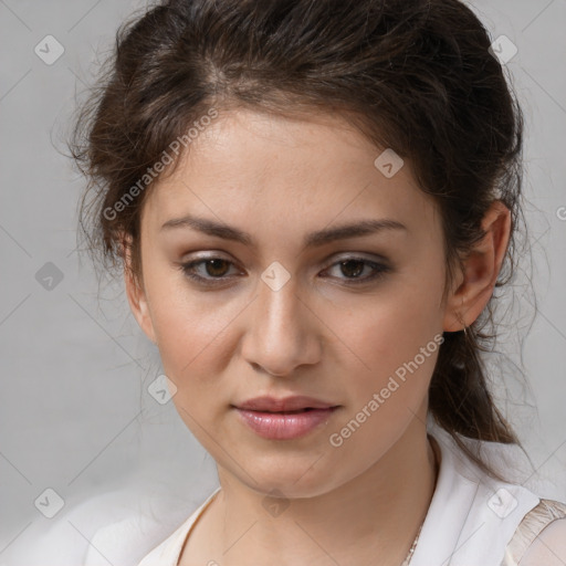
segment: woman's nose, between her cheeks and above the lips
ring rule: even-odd
[[[273,290],[260,280],[248,312],[242,356],[254,369],[272,376],[293,375],[321,357],[319,319],[291,277]]]

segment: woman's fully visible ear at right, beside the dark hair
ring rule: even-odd
[[[493,294],[511,235],[511,211],[501,200],[492,202],[482,228],[485,235],[465,258],[459,286],[448,298],[443,322],[447,332],[470,326]]]

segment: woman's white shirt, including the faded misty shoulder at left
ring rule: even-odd
[[[522,485],[489,478],[441,429],[430,433],[440,447],[439,476],[410,566],[502,566],[506,545],[539,497]],[[507,447],[489,444],[485,457],[493,463]],[[219,491],[213,490],[185,518],[182,505],[174,497],[151,500],[150,505],[142,502],[145,509],[134,499],[139,493],[124,495],[120,505],[115,504],[116,495],[96,497],[61,518],[43,539],[34,534],[25,556],[3,553],[1,558],[10,558],[11,566],[177,566],[185,539]],[[108,520],[111,509],[114,516]],[[559,544],[560,535],[564,538],[565,524],[566,520],[555,521],[553,526],[559,528],[546,530],[552,534],[547,545],[557,548],[553,545]],[[538,566],[539,560],[528,564]],[[515,566],[513,562],[504,565]]]

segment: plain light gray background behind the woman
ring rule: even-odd
[[[470,6],[493,39],[506,35],[518,48],[506,69],[526,117],[534,259],[525,259],[522,273],[534,283],[538,314],[518,280],[499,343],[509,356],[510,388],[500,388],[499,401],[537,469],[525,485],[565,500],[566,0]],[[158,352],[129,314],[122,281],[98,287],[88,258],[77,254],[84,181],[59,153],[75,93],[81,99],[117,25],[144,7],[0,0],[0,566],[15,564],[55,522],[70,538],[86,541],[92,524],[62,517],[102,494],[111,494],[108,505],[125,492],[169,495],[164,509],[175,524],[217,485],[213,461],[172,403],[161,406],[147,392],[161,373]],[[65,50],[52,65],[34,53],[48,34]],[[51,290],[36,280],[41,269],[53,269],[44,268],[48,262],[63,275]],[[526,389],[515,379],[522,363]],[[49,488],[64,500],[51,520],[34,505]]]

